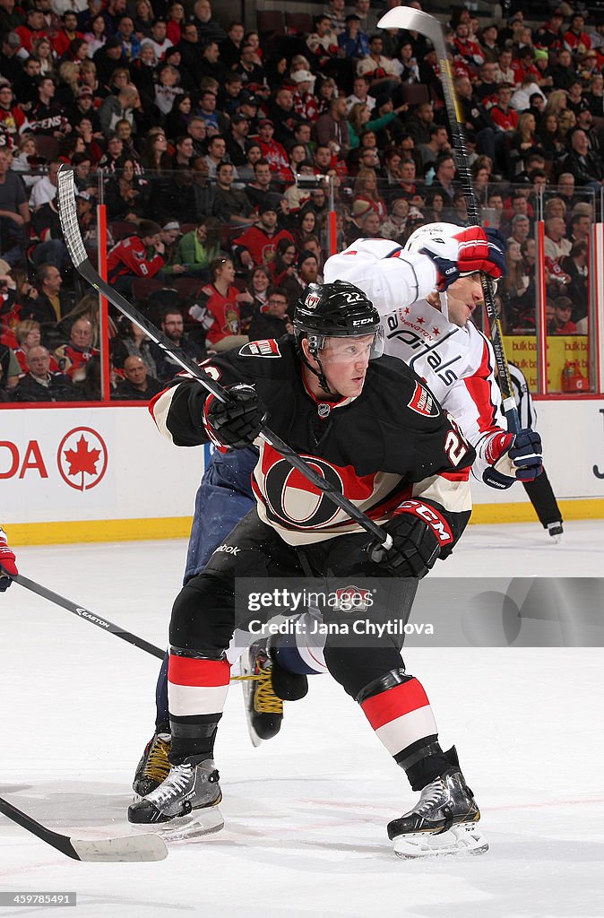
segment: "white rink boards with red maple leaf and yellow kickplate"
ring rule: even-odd
[[[545,466],[565,519],[604,518],[604,397],[537,405]],[[11,543],[187,536],[207,447],[178,448],[146,406],[9,408],[0,506]],[[523,490],[473,484],[474,522],[531,521]]]

